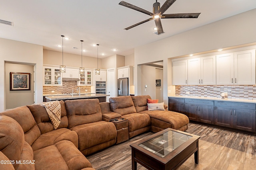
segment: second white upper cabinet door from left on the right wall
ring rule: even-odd
[[[201,84],[201,59],[189,59],[188,60],[188,85],[200,85]]]

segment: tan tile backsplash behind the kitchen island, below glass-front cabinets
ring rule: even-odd
[[[62,82],[62,86],[43,86],[43,94],[64,94],[64,93],[72,93],[72,89],[74,93],[78,93],[77,89],[77,81],[65,81]],[[90,93],[91,86],[79,86],[80,93]],[[87,91],[85,91],[87,90]],[[54,93],[52,92],[54,91]]]

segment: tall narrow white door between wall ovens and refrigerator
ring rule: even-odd
[[[107,70],[107,94],[110,96],[107,96],[106,102],[109,102],[109,98],[116,97],[116,73],[115,68],[110,68]]]

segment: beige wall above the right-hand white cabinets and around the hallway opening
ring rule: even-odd
[[[168,58],[256,42],[256,9],[155,41],[134,49],[135,95],[142,94],[138,64],[164,61],[164,102],[168,103]],[[160,35],[161,36],[161,35]],[[156,59],[156,56],[158,58]]]

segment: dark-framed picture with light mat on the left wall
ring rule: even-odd
[[[10,90],[30,90],[30,73],[10,72]]]

